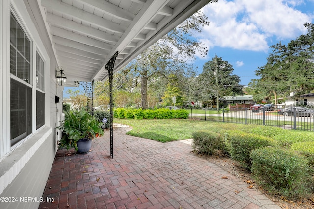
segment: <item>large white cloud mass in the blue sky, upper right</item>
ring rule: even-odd
[[[303,0],[219,0],[205,6],[210,25],[199,39],[210,50],[214,46],[240,50],[267,51],[267,40],[294,39],[306,30],[313,14],[304,14],[294,6]],[[312,17],[311,17],[312,15]]]

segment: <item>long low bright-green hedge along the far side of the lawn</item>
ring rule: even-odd
[[[186,110],[170,110],[160,108],[156,110],[124,109],[117,108],[113,111],[115,118],[127,119],[187,119],[189,113]]]

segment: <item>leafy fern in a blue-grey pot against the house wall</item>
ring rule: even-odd
[[[70,149],[74,147],[77,153],[86,154],[92,140],[104,134],[101,123],[85,110],[65,113],[64,123],[56,129],[63,130],[59,146]]]

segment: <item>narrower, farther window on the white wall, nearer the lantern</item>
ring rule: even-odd
[[[36,53],[36,129],[45,124],[44,61]]]

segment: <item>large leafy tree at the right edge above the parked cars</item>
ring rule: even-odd
[[[271,46],[267,63],[256,70],[261,77],[249,84],[255,97],[271,99],[294,92],[295,97],[314,89],[314,24],[305,23],[308,32],[287,45],[279,42]]]

